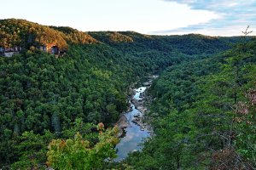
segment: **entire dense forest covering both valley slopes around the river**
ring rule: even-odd
[[[42,44],[67,54],[32,48]],[[20,54],[0,57],[3,169],[256,166],[251,38],[82,32],[0,20],[0,47],[15,46],[23,47]],[[154,136],[125,161],[106,161],[115,156],[113,125],[127,110],[131,84],[154,73]]]

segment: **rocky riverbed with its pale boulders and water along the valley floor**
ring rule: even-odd
[[[140,88],[131,88],[128,110],[121,114],[116,125],[119,127],[120,142],[115,146],[118,157],[115,161],[125,159],[134,150],[142,150],[141,145],[144,139],[154,135],[150,122],[148,123],[147,106],[150,105],[150,96],[147,95],[149,88],[155,77],[148,77],[143,83],[137,83]],[[134,87],[134,86],[133,86]]]

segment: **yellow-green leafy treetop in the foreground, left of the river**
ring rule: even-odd
[[[104,131],[104,127],[100,127]],[[98,136],[99,142],[94,147],[90,147],[90,142],[79,133],[74,139],[52,140],[47,152],[47,164],[55,169],[101,169],[104,160],[116,156],[113,148],[119,142],[116,137],[117,127],[102,131]]]

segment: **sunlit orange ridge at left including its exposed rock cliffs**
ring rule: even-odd
[[[96,42],[93,37],[69,27],[41,26],[27,20],[0,20],[0,55],[5,57],[26,50],[61,56],[70,43],[93,42]]]

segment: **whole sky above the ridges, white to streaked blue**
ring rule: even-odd
[[[0,0],[0,19],[79,31],[174,35],[256,35],[256,0]]]

